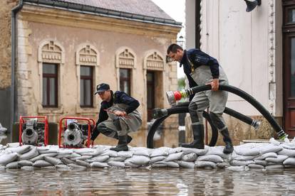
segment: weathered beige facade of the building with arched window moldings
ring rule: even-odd
[[[95,86],[107,82],[110,88],[118,90],[118,67],[120,53],[128,50],[133,56],[131,96],[140,102],[143,126],[131,145],[145,146],[147,135],[146,77],[149,58],[162,60],[163,68],[157,70],[161,80],[155,89],[157,107],[168,107],[165,101],[167,90],[177,89],[176,64],[165,63],[167,45],[175,42],[179,28],[148,23],[123,21],[114,18],[91,16],[57,9],[27,6],[18,17],[18,65],[17,65],[17,114],[46,115],[49,121],[58,122],[61,116],[87,116],[97,119],[100,99],[93,98],[92,109],[81,109],[79,94],[78,51],[87,45],[96,53]],[[56,57],[41,55],[43,45],[54,45]],[[54,52],[54,51],[53,51]],[[45,59],[45,61],[44,61]],[[57,62],[59,65],[58,108],[46,109],[41,105],[42,62]],[[90,63],[91,64],[91,63]],[[93,87],[94,88],[94,87]],[[165,146],[178,143],[177,118],[167,120],[165,128],[173,129]],[[166,140],[166,139],[165,139]],[[98,143],[115,144],[116,141],[98,137]],[[166,141],[163,141],[166,142]]]

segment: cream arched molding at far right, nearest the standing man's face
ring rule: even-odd
[[[157,50],[148,50],[143,62],[143,69],[145,70],[164,70],[164,58],[162,54]]]

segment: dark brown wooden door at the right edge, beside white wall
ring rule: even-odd
[[[284,8],[284,129],[295,136],[295,2],[283,1]]]

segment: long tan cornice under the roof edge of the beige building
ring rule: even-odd
[[[175,26],[129,21],[32,5],[24,5],[21,10],[20,18],[36,23],[48,23],[59,26],[90,28],[102,31],[115,31],[118,33],[132,33],[174,39],[180,31],[180,27]]]

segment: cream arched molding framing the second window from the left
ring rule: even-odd
[[[87,66],[93,66],[93,89],[95,88],[95,85],[98,83],[98,79],[96,76],[98,76],[98,67],[100,65],[100,55],[98,53],[98,50],[95,48],[94,45],[90,43],[82,43],[81,45],[78,45],[76,50],[76,77],[77,77],[77,83],[78,83],[78,90],[77,90],[77,103],[76,103],[76,113],[97,113],[98,110],[96,106],[98,105],[98,100],[95,99],[94,94],[93,96],[93,107],[87,108],[82,107],[81,108],[81,65],[87,65]]]

